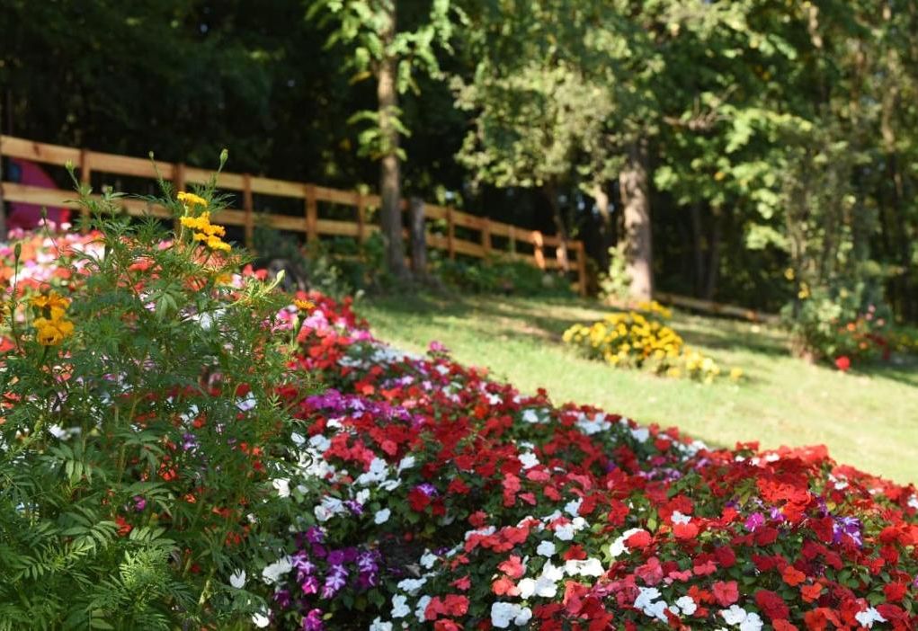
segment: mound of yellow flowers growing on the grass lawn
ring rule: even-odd
[[[564,334],[567,344],[589,358],[616,368],[653,372],[666,377],[689,377],[711,383],[721,367],[710,357],[689,349],[675,330],[666,325],[669,309],[656,301],[639,304],[636,310],[607,315],[592,325],[574,325]],[[740,369],[730,371],[738,380]]]

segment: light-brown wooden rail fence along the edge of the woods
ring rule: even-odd
[[[90,183],[94,176],[100,174],[152,181],[158,171],[164,180],[174,183],[176,190],[184,190],[188,184],[206,183],[211,176],[211,172],[205,169],[185,166],[183,163],[156,161],[154,171],[153,161],[145,158],[73,149],[12,136],[0,136],[0,158],[4,156],[56,166],[73,163],[82,183]],[[379,196],[375,194],[341,191],[313,183],[275,180],[250,173],[222,172],[217,183],[221,190],[241,193],[242,207],[222,210],[213,218],[221,224],[243,227],[245,243],[249,247],[252,247],[256,222],[300,233],[308,243],[317,242],[320,236],[351,237],[363,242],[379,229],[369,219],[371,211],[380,205]],[[73,191],[68,190],[0,182],[0,199],[6,202],[74,208],[79,206],[74,196]],[[296,215],[259,212],[256,206],[268,205],[266,202],[269,198],[300,200],[301,211]],[[121,204],[131,215],[170,216],[167,209],[138,199],[124,199]],[[353,208],[353,218],[330,218],[327,212],[330,205]],[[408,208],[408,201],[403,200],[403,212]],[[561,238],[543,235],[538,230],[492,221],[487,217],[469,215],[449,206],[425,204],[424,216],[428,248],[444,250],[451,259],[457,254],[478,259],[502,255],[542,270],[564,267]],[[461,228],[462,235],[457,234],[457,227]],[[577,275],[577,288],[581,294],[585,294],[587,259],[583,242],[568,241],[567,249],[569,271]]]

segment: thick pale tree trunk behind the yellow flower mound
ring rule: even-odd
[[[633,298],[649,300],[654,293],[653,245],[650,229],[650,195],[647,182],[647,149],[643,140],[628,150],[619,175],[621,207],[627,240],[627,267]]]

